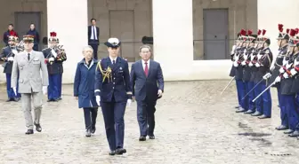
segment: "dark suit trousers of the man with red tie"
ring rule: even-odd
[[[142,137],[154,135],[156,103],[157,100],[137,101],[137,121]]]

